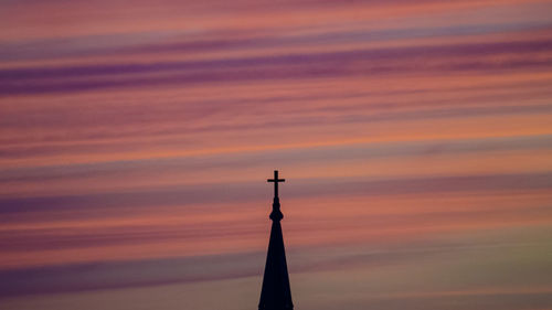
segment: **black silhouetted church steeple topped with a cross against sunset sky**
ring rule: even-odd
[[[278,171],[274,171],[274,202],[270,220],[270,242],[268,243],[268,254],[266,255],[265,276],[263,278],[263,289],[261,290],[261,301],[258,310],[291,310],[291,290],[289,288],[289,276],[287,274],[286,250],[284,248],[284,236],[282,235],[280,221],[284,214],[279,211],[278,183],[286,181],[278,179]]]

